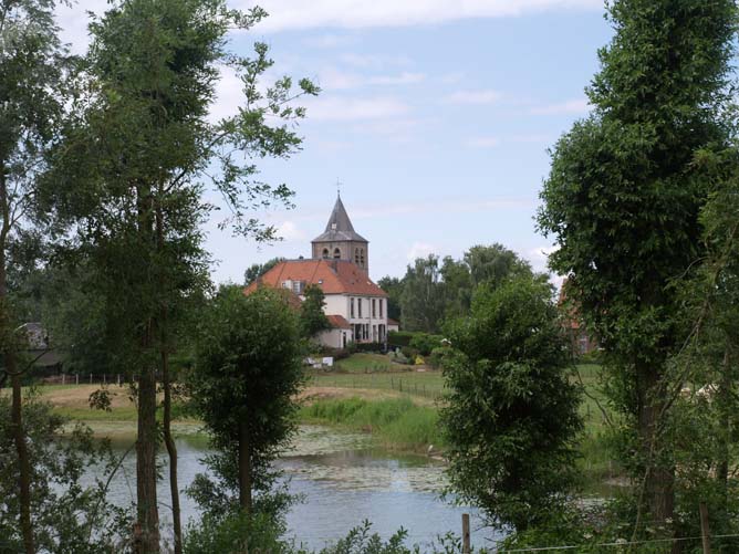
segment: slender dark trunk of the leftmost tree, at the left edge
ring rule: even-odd
[[[6,248],[10,234],[11,220],[4,164],[0,164],[0,201],[2,202],[2,229],[0,229],[0,310],[2,310],[2,313],[0,313],[0,325],[7,327],[0,330],[0,332],[3,332],[3,334],[7,333],[6,336],[12,343],[11,320],[8,314],[8,279],[6,272]],[[33,544],[33,525],[31,524],[31,462],[29,460],[25,431],[23,429],[21,376],[18,370],[14,346],[12,344],[2,345],[2,355],[4,357],[6,372],[10,375],[12,386],[10,419],[15,453],[18,456],[19,523],[23,536],[23,547],[28,554],[32,554],[35,552],[35,547]]]

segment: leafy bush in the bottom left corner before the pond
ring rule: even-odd
[[[60,554],[121,552],[131,514],[106,499],[106,475],[118,460],[107,443],[66,421],[31,393],[23,403],[32,467],[31,508],[35,547]],[[82,475],[94,472],[93,483]],[[18,460],[10,429],[10,403],[0,396],[0,551],[22,551],[18,525]]]

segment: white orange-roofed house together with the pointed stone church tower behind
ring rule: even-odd
[[[397,323],[387,318],[387,294],[370,279],[370,242],[352,226],[336,198],[323,233],[311,241],[311,259],[278,263],[246,293],[259,286],[285,289],[300,301],[308,285],[320,286],[331,328],[315,338],[325,346],[344,348],[351,342],[385,343]]]

